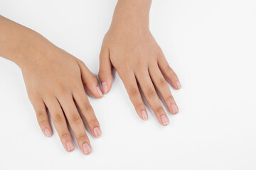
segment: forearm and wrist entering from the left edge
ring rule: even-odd
[[[0,56],[20,67],[38,53],[43,54],[48,40],[35,31],[0,16]],[[26,54],[30,54],[29,56]]]

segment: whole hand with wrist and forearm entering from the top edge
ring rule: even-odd
[[[139,117],[148,119],[140,88],[159,123],[168,125],[169,118],[156,89],[164,98],[169,112],[176,114],[178,106],[166,79],[174,89],[181,89],[181,83],[151,35],[150,6],[151,0],[118,1],[112,24],[102,42],[99,77],[106,94],[112,86],[112,67],[117,69]]]

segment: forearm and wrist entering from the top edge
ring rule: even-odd
[[[151,0],[119,0],[114,10],[112,26],[149,28],[150,6]]]

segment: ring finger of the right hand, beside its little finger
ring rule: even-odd
[[[150,67],[149,74],[152,81],[154,82],[154,85],[159,90],[161,96],[164,98],[164,102],[166,103],[169,112],[172,114],[178,113],[178,106],[174,101],[174,97],[172,96],[166,79],[164,79],[163,74],[161,74],[159,67],[157,67],[157,65],[155,67]]]

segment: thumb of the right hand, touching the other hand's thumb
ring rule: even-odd
[[[102,50],[100,52],[100,70],[99,78],[102,84],[103,94],[107,94],[112,86],[112,65],[110,62],[110,54],[108,50]]]

